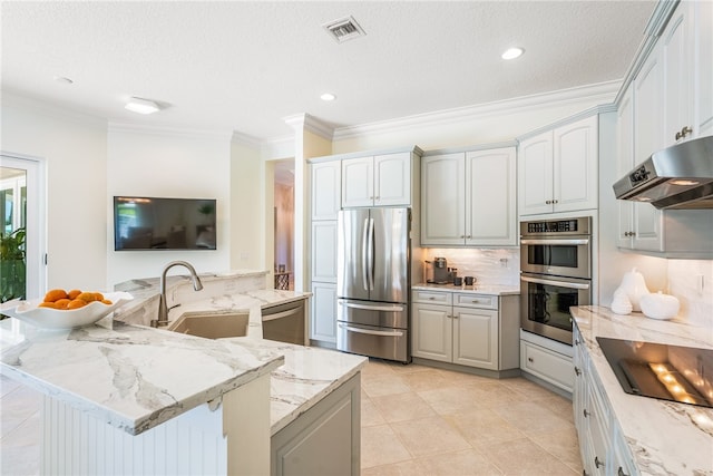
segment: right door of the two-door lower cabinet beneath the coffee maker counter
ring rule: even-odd
[[[498,311],[453,308],[453,363],[498,370]]]

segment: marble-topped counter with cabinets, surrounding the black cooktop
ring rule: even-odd
[[[637,312],[618,315],[597,305],[570,311],[576,322],[575,356],[580,356],[579,361],[575,357],[577,379],[590,382],[587,391],[576,386],[574,395],[587,474],[592,474],[588,465],[594,472],[603,465],[606,474],[622,469],[623,474],[713,475],[713,408],[624,392],[596,340],[713,349],[711,330]],[[711,365],[701,362],[707,372]]]

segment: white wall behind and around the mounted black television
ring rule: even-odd
[[[185,260],[198,273],[231,269],[231,134],[160,130],[111,124],[107,138],[107,282],[160,275],[166,263]],[[217,200],[217,250],[114,251],[115,195]],[[170,274],[185,274],[172,270]]]

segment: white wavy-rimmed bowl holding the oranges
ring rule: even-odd
[[[60,310],[38,308],[42,299],[35,299],[20,301],[14,309],[2,309],[0,312],[40,329],[74,329],[94,324],[134,299],[128,292],[102,292],[102,294],[105,299],[111,301],[111,304],[95,301],[84,308]]]

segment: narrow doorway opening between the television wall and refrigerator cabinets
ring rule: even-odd
[[[275,289],[294,290],[294,159],[276,161],[274,176]]]

